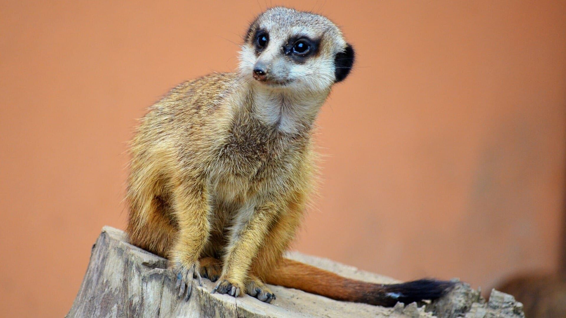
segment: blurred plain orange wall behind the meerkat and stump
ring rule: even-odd
[[[482,290],[564,267],[565,1],[1,1],[3,314],[66,314],[102,226],[125,228],[136,119],[234,70],[275,5],[328,16],[358,57],[318,121],[297,250]]]

